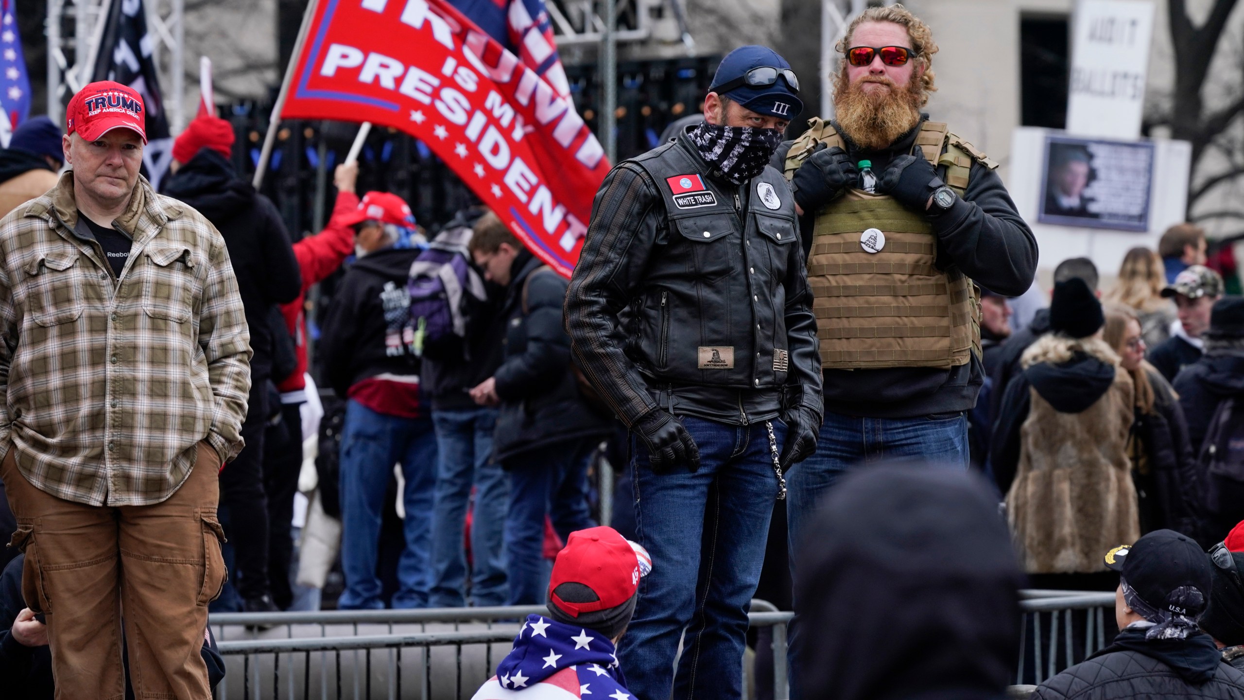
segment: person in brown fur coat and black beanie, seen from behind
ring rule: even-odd
[[[1036,588],[1113,588],[1101,553],[1141,534],[1127,456],[1132,379],[1101,340],[1101,305],[1090,299],[1024,352],[994,431],[994,476]]]

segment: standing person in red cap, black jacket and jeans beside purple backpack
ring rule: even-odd
[[[429,594],[437,436],[419,380],[406,283],[418,248],[398,243],[414,217],[401,197],[368,192],[341,223],[357,230],[360,258],[346,270],[323,319],[322,376],[347,399],[341,436],[341,609],[425,608]],[[398,590],[384,600],[376,573],[384,491],[393,465],[406,478]]]

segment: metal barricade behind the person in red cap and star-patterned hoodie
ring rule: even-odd
[[[751,610],[751,627],[773,627],[774,698],[785,699],[791,613],[765,600]],[[228,671],[216,698],[465,700],[491,678],[529,614],[547,608],[214,614]]]

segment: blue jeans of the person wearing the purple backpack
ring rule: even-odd
[[[489,463],[496,409],[433,411],[437,426],[437,504],[432,522],[433,608],[462,608],[466,604],[463,585],[466,557],[463,524],[471,486],[475,506],[470,526],[471,600],[475,605],[504,605],[505,508],[510,485],[500,465]]]

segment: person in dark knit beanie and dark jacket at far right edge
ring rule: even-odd
[[[1210,313],[1209,330],[1202,334],[1205,354],[1176,377],[1174,390],[1188,420],[1193,453],[1204,451],[1205,433],[1218,405],[1229,397],[1244,400],[1244,299],[1219,299]],[[1204,467],[1202,466],[1202,471]],[[1209,475],[1200,473],[1203,482]],[[1204,488],[1204,485],[1203,485]],[[1235,508],[1210,508],[1205,503],[1205,527],[1222,532],[1244,518],[1244,503]]]

